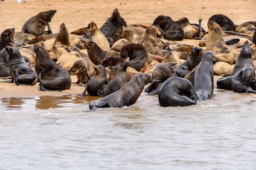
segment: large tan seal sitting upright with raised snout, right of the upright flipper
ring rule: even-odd
[[[223,61],[232,65],[234,61],[234,53],[227,47],[222,38],[221,26],[212,21],[208,21],[208,28],[207,51],[211,50],[214,52],[217,62]]]

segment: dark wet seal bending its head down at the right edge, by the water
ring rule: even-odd
[[[252,66],[246,66],[236,73],[231,89],[239,93],[256,93],[255,70]]]

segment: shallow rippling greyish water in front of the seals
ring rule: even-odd
[[[143,92],[92,111],[97,97],[0,98],[0,169],[256,170],[256,95],[214,94],[163,108]]]

